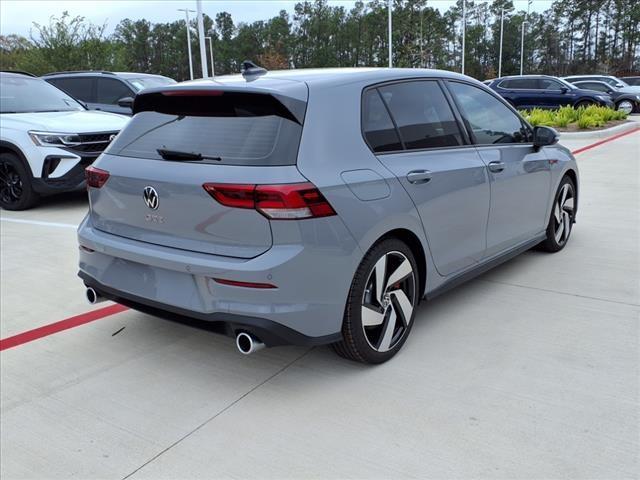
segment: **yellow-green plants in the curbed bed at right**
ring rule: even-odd
[[[560,107],[557,110],[534,108],[521,112],[524,118],[533,125],[545,127],[567,128],[575,124],[579,129],[597,128],[615,120],[625,120],[627,114],[607,107],[590,105],[588,107]]]

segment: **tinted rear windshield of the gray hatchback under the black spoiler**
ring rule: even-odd
[[[205,91],[140,95],[134,117],[107,153],[164,160],[158,150],[199,154],[225,165],[295,165],[304,102],[272,95]],[[302,112],[302,115],[300,113]]]

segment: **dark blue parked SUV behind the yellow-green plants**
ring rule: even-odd
[[[609,95],[580,89],[569,82],[547,75],[522,75],[495,79],[489,87],[515,108],[559,108],[600,105],[614,107]]]

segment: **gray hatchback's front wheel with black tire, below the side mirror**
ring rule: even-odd
[[[575,221],[576,200],[576,187],[571,179],[565,176],[553,197],[553,207],[547,224],[547,238],[540,243],[541,250],[555,253],[565,247]]]

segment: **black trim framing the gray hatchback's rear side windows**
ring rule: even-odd
[[[394,154],[397,155],[398,153],[430,152],[434,150],[451,150],[456,148],[468,148],[468,147],[474,146],[473,143],[471,142],[471,138],[469,137],[465,126],[460,123],[462,120],[462,117],[458,112],[457,106],[455,104],[452,104],[453,99],[449,98],[449,92],[443,85],[442,83],[443,80],[446,80],[446,79],[440,78],[440,77],[400,78],[400,79],[394,79],[394,80],[385,80],[383,82],[367,85],[362,89],[362,92],[360,94],[360,135],[362,136],[362,139],[364,140],[365,145],[367,146],[367,148],[369,148],[371,153],[373,153],[376,156],[377,155],[394,155]],[[406,148],[404,139],[402,138],[402,134],[400,133],[400,129],[398,128],[398,125],[396,123],[396,119],[391,114],[391,110],[389,109],[389,106],[387,105],[387,102],[384,100],[384,97],[382,96],[382,93],[380,92],[379,89],[380,87],[386,87],[387,85],[396,85],[396,84],[409,83],[409,82],[424,82],[424,81],[435,82],[439,86],[440,90],[442,91],[442,95],[444,96],[447,104],[449,105],[449,108],[451,109],[451,112],[453,113],[453,117],[456,121],[456,125],[458,126],[458,130],[460,131],[460,135],[462,137],[462,142],[463,142],[461,145],[451,145],[447,147],[412,148],[412,149]],[[391,119],[391,122],[393,123],[393,126],[396,130],[396,135],[400,140],[400,144],[403,147],[402,150],[389,150],[386,152],[376,152],[373,148],[371,148],[371,145],[369,145],[369,142],[367,141],[367,137],[364,131],[364,96],[369,90],[376,90],[378,95],[380,96],[380,99],[382,100],[382,104],[385,106],[387,110],[387,114],[389,115],[389,118]]]

